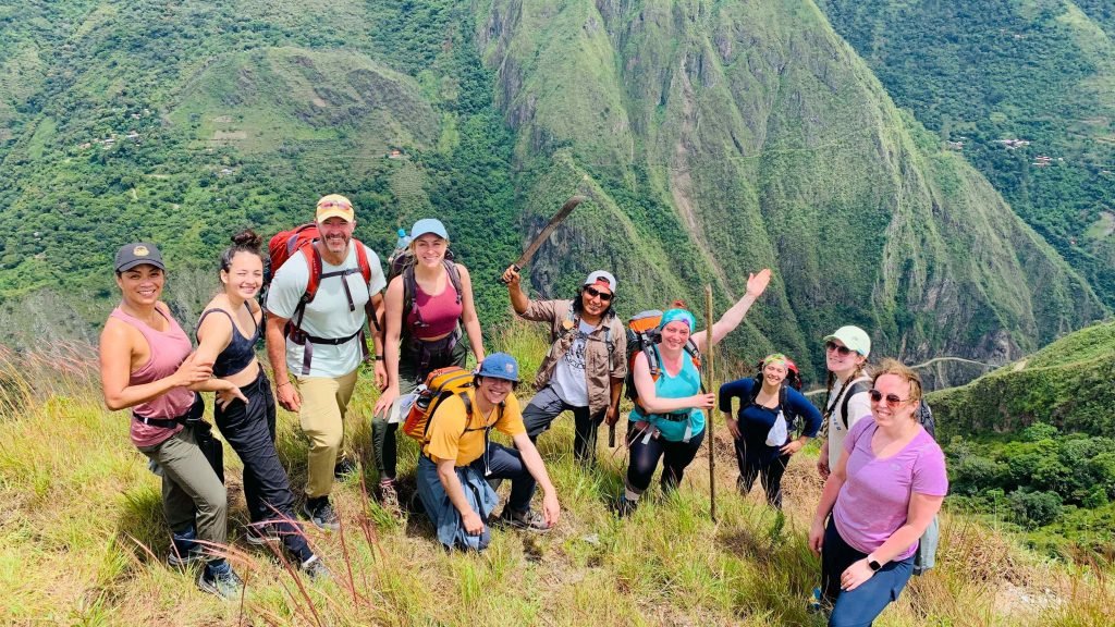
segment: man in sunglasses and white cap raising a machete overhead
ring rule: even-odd
[[[523,409],[531,441],[550,428],[559,414],[573,412],[576,435],[573,455],[578,462],[595,459],[597,428],[601,422],[619,419],[620,392],[627,377],[627,332],[612,307],[615,278],[597,270],[585,278],[573,300],[531,300],[520,284],[518,270],[553,228],[583,199],[574,196],[535,238],[526,252],[504,271],[511,305],[521,318],[550,325],[552,345],[539,367],[539,389]]]

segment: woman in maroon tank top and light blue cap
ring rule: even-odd
[[[384,355],[387,389],[372,412],[371,438],[379,470],[384,504],[398,509],[395,492],[398,399],[426,380],[426,375],[447,366],[464,367],[468,356],[460,326],[468,336],[476,363],[484,360],[481,322],[473,305],[468,270],[446,259],[449,234],[439,220],[426,218],[410,229],[410,247],[403,271],[387,284]],[[396,260],[392,260],[392,268]],[[458,326],[458,320],[460,325]]]

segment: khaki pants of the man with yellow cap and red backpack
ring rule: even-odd
[[[345,414],[352,389],[356,370],[332,377],[299,377],[298,393],[302,407],[298,419],[302,433],[310,438],[307,455],[306,495],[309,499],[328,496],[333,489],[333,466],[345,440]]]

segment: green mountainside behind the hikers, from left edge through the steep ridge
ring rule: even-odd
[[[89,0],[0,23],[10,343],[93,335],[133,238],[166,249],[188,320],[231,231],[334,191],[384,253],[443,218],[489,325],[489,277],[578,190],[593,202],[530,267],[536,291],[604,267],[622,314],[704,283],[723,309],[770,266],[746,360],[816,366],[855,322],[881,354],[1002,361],[1106,312],[809,2]]]

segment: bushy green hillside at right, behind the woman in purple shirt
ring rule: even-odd
[[[1115,557],[1115,322],[930,395],[950,500],[1063,557]]]

